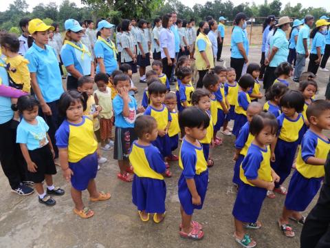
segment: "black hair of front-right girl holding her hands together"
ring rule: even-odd
[[[263,128],[270,126],[271,133],[276,134],[278,130],[277,119],[271,112],[260,112],[253,116],[250,123],[250,133],[254,136],[260,134]]]

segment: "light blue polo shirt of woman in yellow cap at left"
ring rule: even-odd
[[[64,90],[54,48],[45,45],[45,49],[43,49],[33,43],[25,53],[25,59],[30,62],[28,64],[30,72],[36,73],[36,80],[45,102],[51,103],[60,99]]]

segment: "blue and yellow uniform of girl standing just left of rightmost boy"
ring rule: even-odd
[[[291,172],[304,118],[302,114],[298,114],[298,117],[292,120],[285,114],[281,114],[277,117],[277,122],[278,139],[274,151],[276,160],[272,162],[272,168],[280,176],[280,181],[275,183],[276,188],[281,186]]]

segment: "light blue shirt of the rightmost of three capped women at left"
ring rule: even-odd
[[[118,63],[115,59],[115,56],[113,54],[113,50],[109,48],[107,44],[105,44],[103,41],[96,41],[94,45],[94,52],[96,59],[100,58],[103,59],[105,72],[107,74],[112,74],[114,70],[117,70]],[[100,65],[96,67],[96,73],[100,72]]]

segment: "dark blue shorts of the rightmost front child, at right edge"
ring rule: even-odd
[[[313,165],[311,165],[313,166]],[[294,211],[305,211],[314,196],[318,194],[323,178],[305,178],[295,171],[287,189],[285,207]]]

